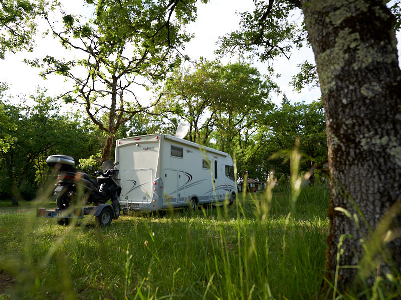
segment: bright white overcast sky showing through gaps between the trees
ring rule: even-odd
[[[79,7],[80,0],[61,2],[68,5],[68,7]],[[240,18],[235,12],[251,10],[252,7],[253,0],[211,0],[207,4],[198,2],[197,21],[187,27],[189,32],[194,32],[195,37],[186,46],[186,53],[192,59],[197,59],[200,56],[209,60],[215,59],[214,51],[217,48],[216,41],[219,36],[238,28]],[[398,32],[398,40],[401,38],[400,35],[401,34]],[[35,94],[38,86],[47,88],[48,94],[51,96],[59,95],[71,89],[71,85],[64,81],[63,76],[52,75],[49,76],[47,80],[44,80],[39,76],[39,69],[32,68],[23,62],[24,58],[43,58],[46,55],[57,57],[63,53],[59,42],[51,36],[46,38],[39,36],[36,38],[36,43],[37,46],[33,53],[26,51],[16,54],[6,53],[6,59],[0,60],[0,81],[9,84],[9,93],[15,97],[16,101],[19,95]],[[71,53],[66,52],[65,55],[71,55]],[[398,56],[401,56],[399,42]],[[305,100],[309,102],[311,100],[316,100],[320,96],[320,90],[318,88],[312,90],[304,88],[301,93],[298,93],[294,92],[292,87],[288,84],[291,77],[297,72],[297,64],[302,62],[305,58],[309,61],[313,61],[313,52],[311,49],[303,47],[302,50],[294,51],[291,54],[290,60],[279,58],[273,64],[276,72],[282,74],[280,78],[276,79],[276,82],[291,101]],[[230,58],[226,57],[223,59],[223,62],[227,62],[228,59]],[[266,65],[262,63],[256,63],[255,65],[261,73],[264,73]],[[150,96],[144,90],[139,91],[138,94],[143,97],[143,100]],[[281,97],[281,95],[273,95],[274,102],[279,103]]]

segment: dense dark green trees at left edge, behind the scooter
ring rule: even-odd
[[[48,155],[67,154],[78,160],[98,152],[104,142],[88,120],[60,113],[57,102],[43,91],[33,100],[33,105],[0,103],[3,144],[12,141],[0,151],[0,193],[6,197],[34,198],[49,180]]]

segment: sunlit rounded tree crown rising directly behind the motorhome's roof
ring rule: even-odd
[[[248,63],[203,60],[194,69],[174,71],[157,111],[162,113],[160,122],[186,120],[187,139],[205,145],[215,139],[213,147],[233,153],[240,132],[256,126],[273,107],[269,92],[276,88]]]

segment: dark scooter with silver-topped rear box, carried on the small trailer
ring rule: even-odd
[[[98,175],[91,179],[87,173],[78,172],[75,168],[75,159],[68,155],[50,155],[46,162],[49,166],[59,171],[59,180],[56,183],[54,194],[56,197],[57,209],[63,210],[70,205],[86,205],[94,203],[99,205],[111,199],[114,215],[120,215],[120,202],[118,198],[121,193],[121,186],[116,179],[118,169],[111,160],[102,164],[102,171],[96,171],[90,175]],[[111,219],[110,219],[111,221]]]

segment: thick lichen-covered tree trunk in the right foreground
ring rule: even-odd
[[[371,267],[370,274],[401,269],[401,238],[383,241],[386,229],[401,224],[401,72],[397,42],[393,16],[385,1],[301,3],[326,113],[332,177],[326,269],[334,280],[337,267],[338,288],[345,290],[358,286],[357,268],[341,267],[360,264],[362,257],[370,263],[362,263]],[[346,209],[351,217],[336,207]],[[384,215],[388,223],[378,227]],[[374,240],[375,229],[377,243],[370,245],[383,242],[389,254],[374,253],[374,246],[370,254],[364,252],[363,243]],[[366,278],[371,284],[374,276]]]

